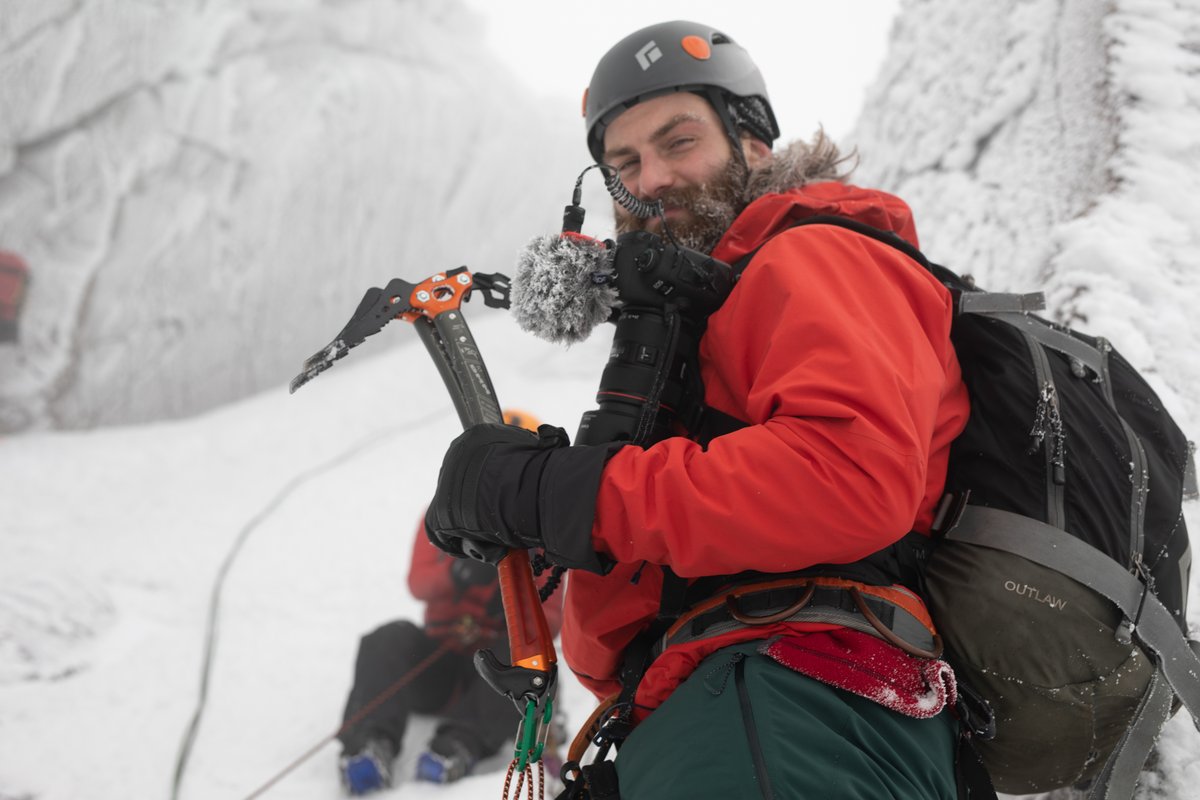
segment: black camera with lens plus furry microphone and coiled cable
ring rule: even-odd
[[[630,213],[662,217],[666,239],[632,230],[613,242],[580,233],[581,185],[593,168],[605,174],[613,200]],[[510,308],[523,330],[564,344],[582,342],[600,323],[616,323],[596,392],[599,408],[583,415],[576,444],[647,445],[671,434],[682,409],[696,407],[686,403],[684,409],[686,391],[695,389],[691,377],[698,375],[700,336],[732,287],[727,264],[676,241],[660,201],[637,199],[616,169],[593,164],[575,182],[563,231],[538,236],[520,253]]]

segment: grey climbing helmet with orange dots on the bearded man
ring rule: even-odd
[[[738,128],[767,144],[779,137],[767,84],[750,54],[715,28],[676,20],[630,34],[600,59],[583,92],[592,157],[600,161],[605,128],[622,112],[674,91],[692,91],[712,103],[734,152],[742,152]]]

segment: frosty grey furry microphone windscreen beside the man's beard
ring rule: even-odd
[[[533,239],[517,259],[512,315],[540,339],[574,344],[612,314],[617,288],[604,243],[558,234]]]

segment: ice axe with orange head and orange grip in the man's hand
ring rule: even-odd
[[[492,308],[509,307],[508,277],[474,275],[466,266],[439,272],[415,284],[392,278],[383,289],[368,289],[346,327],[305,361],[290,390],[294,392],[304,386],[366,337],[398,318],[416,329],[463,427],[503,422],[492,379],[462,315],[462,303],[474,290],[482,293],[484,302]],[[512,663],[504,663],[485,649],[475,652],[475,669],[522,714],[512,763],[504,782],[504,798],[509,798],[514,775],[518,776],[515,796],[521,795],[528,780],[528,796],[533,798],[533,764],[538,764],[541,775],[541,754],[553,717],[557,656],[529,554],[521,549],[509,551],[497,570]],[[539,781],[539,786],[540,793],[544,792],[545,782]]]

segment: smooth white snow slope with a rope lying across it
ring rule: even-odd
[[[502,402],[574,432],[607,336],[563,351],[478,302],[467,317]],[[230,557],[180,796],[246,796],[337,728],[358,637],[420,615],[408,537],[457,431],[415,332],[395,323],[384,337],[295,395],[281,386],[186,421],[5,441],[0,798],[168,796]],[[298,348],[298,372],[317,347]],[[576,722],[590,710],[569,676],[563,697]],[[336,795],[336,753],[268,796]],[[479,796],[499,782],[426,792]]]

